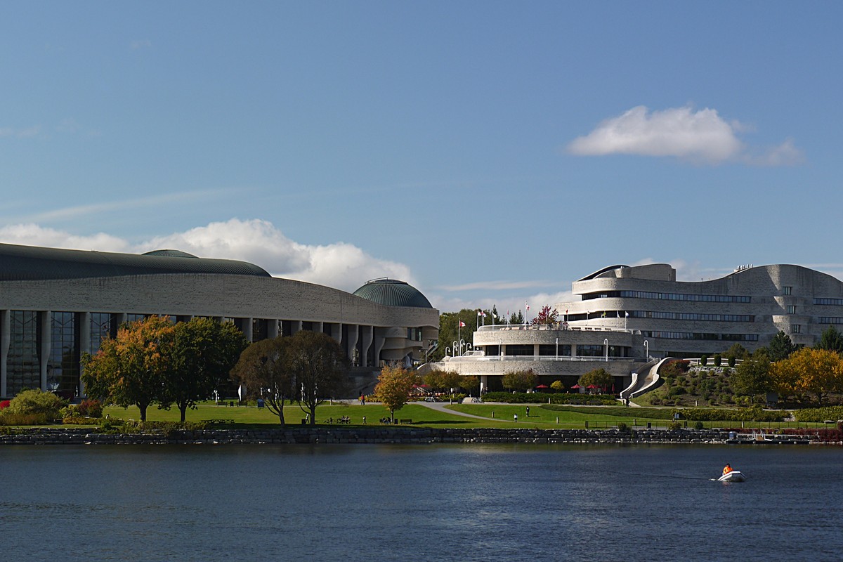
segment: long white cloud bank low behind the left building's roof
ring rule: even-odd
[[[379,260],[352,244],[298,244],[284,236],[271,222],[258,219],[212,222],[130,244],[105,233],[76,236],[35,223],[0,228],[0,241],[67,249],[96,249],[111,252],[147,252],[180,249],[204,258],[244,260],[260,265],[273,276],[333,286],[354,291],[370,279],[390,277],[413,283],[410,268]]]

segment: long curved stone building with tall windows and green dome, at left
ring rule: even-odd
[[[231,321],[250,341],[324,332],[346,351],[354,392],[385,362],[421,361],[439,326],[438,310],[404,281],[368,281],[352,294],[178,250],[0,244],[0,397],[23,388],[83,396],[82,354],[98,351],[121,324],[153,314]]]

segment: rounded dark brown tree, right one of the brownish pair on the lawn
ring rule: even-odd
[[[286,368],[295,380],[296,401],[316,423],[316,407],[341,393],[346,386],[346,354],[340,344],[322,332],[299,330],[290,337]]]

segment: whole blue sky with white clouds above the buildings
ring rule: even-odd
[[[840,3],[0,3],[0,242],[443,311],[605,265],[843,276]],[[838,139],[838,140],[835,140]]]

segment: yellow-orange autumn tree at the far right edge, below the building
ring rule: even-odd
[[[772,366],[772,378],[782,394],[812,393],[817,402],[843,391],[843,358],[835,351],[803,347]]]

